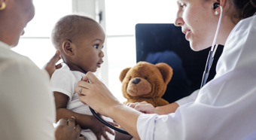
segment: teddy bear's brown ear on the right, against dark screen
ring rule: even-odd
[[[156,64],[157,68],[160,70],[164,83],[168,84],[172,78],[172,68],[166,63],[160,62]]]

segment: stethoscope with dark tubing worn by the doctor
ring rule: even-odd
[[[203,80],[202,80],[202,84],[201,84],[201,88],[206,84],[206,81],[207,81],[207,78],[209,76],[209,72],[210,72],[210,69],[212,67],[212,62],[213,62],[213,59],[214,59],[214,56],[215,56],[215,52],[217,50],[217,47],[218,47],[218,44],[215,46],[215,42],[216,42],[216,39],[217,39],[217,36],[218,36],[218,31],[220,29],[220,26],[221,26],[221,19],[222,19],[222,13],[223,13],[223,9],[221,7],[221,5],[219,5],[218,3],[215,3],[214,4],[214,9],[220,7],[221,8],[221,15],[220,15],[220,18],[218,20],[218,27],[217,27],[217,30],[216,30],[216,33],[215,33],[215,38],[212,42],[212,47],[211,47],[211,50],[209,52],[209,56],[207,58],[207,61],[206,61],[206,68],[205,68],[205,71],[203,72]],[[83,78],[82,78],[82,81],[83,81]],[[89,83],[91,83],[90,81],[88,81]],[[90,107],[89,107],[90,108]],[[126,134],[126,135],[130,135],[128,132],[126,132],[124,129],[119,129],[115,126],[112,126],[110,123],[106,122],[105,120],[102,119],[102,117],[99,117],[98,114],[96,114],[96,112],[90,108],[90,111],[93,113],[93,115],[100,121],[102,122],[103,124],[105,124],[106,126],[108,126],[109,128],[111,129],[114,129],[116,130],[117,132],[121,132],[123,134]]]

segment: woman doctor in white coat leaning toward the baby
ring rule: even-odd
[[[225,47],[217,75],[202,89],[160,108],[146,102],[129,108],[88,72],[78,82],[81,102],[145,140],[252,138],[256,132],[256,2],[177,0],[175,25],[182,27],[193,50],[211,46],[221,12],[215,3],[224,9],[216,44]]]

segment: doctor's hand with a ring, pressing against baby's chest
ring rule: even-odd
[[[91,83],[88,83],[88,80]],[[89,105],[103,116],[109,117],[110,114],[114,113],[111,111],[113,107],[123,106],[123,103],[119,102],[92,72],[87,72],[83,81],[78,81],[78,87],[75,90],[80,95],[81,102]]]

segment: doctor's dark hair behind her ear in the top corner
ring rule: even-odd
[[[231,0],[234,6],[233,18],[242,20],[247,17],[251,17],[256,12],[256,0]]]

